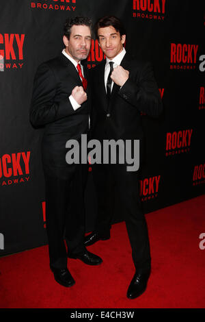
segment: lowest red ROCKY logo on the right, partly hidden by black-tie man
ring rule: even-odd
[[[139,196],[141,201],[148,201],[157,197],[160,179],[161,175],[157,175],[139,180]]]

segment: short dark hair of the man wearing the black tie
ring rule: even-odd
[[[114,27],[117,32],[120,32],[121,37],[122,35],[126,35],[124,25],[119,18],[117,18],[116,16],[103,16],[102,18],[98,19],[95,24],[96,38],[98,39],[98,29],[110,26]]]

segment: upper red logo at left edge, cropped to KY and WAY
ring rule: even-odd
[[[0,70],[22,69],[25,34],[0,34]]]

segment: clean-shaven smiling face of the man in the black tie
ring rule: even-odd
[[[126,36],[120,36],[120,32],[112,26],[98,29],[99,45],[109,60],[115,58],[123,49]]]

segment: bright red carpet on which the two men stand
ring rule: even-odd
[[[205,197],[146,215],[152,275],[146,293],[126,299],[134,274],[124,223],[113,225],[111,239],[88,247],[102,257],[99,267],[69,260],[76,284],[64,288],[49,270],[48,248],[0,259],[1,308],[204,308]]]

